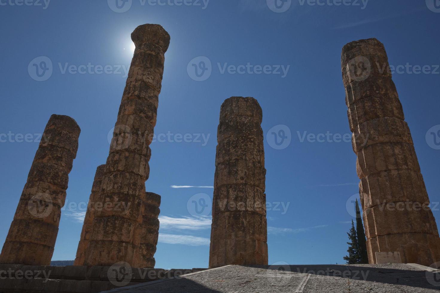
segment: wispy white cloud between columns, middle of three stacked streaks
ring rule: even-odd
[[[211,217],[181,217],[159,216],[162,230],[204,230],[211,228]]]

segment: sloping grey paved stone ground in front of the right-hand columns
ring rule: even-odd
[[[425,271],[408,264],[234,265],[108,292],[439,293],[440,271]]]

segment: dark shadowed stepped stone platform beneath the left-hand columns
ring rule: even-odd
[[[98,293],[201,270],[131,268],[130,272],[117,271],[115,275],[114,267],[0,264],[0,293]]]

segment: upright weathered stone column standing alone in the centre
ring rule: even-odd
[[[209,267],[268,264],[262,117],[253,98],[220,108]]]

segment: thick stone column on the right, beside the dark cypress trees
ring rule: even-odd
[[[375,252],[397,251],[404,263],[440,261],[437,225],[383,44],[346,44],[341,63],[370,264]]]

